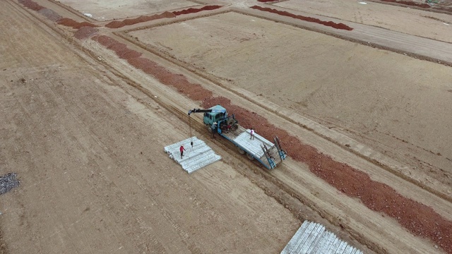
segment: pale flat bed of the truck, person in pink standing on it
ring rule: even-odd
[[[220,135],[227,138],[232,143],[242,148],[242,150],[252,155],[259,162],[265,164],[267,168],[271,169],[270,163],[264,155],[261,147],[261,145],[265,144],[268,148],[270,156],[274,158],[273,161],[275,162],[275,165],[278,165],[281,162],[281,158],[278,153],[278,148],[275,146],[275,144],[266,140],[257,133],[254,134],[254,140],[251,140],[250,131],[251,130],[239,126],[235,131],[230,131],[227,133],[223,132]]]

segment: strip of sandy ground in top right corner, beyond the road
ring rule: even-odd
[[[275,6],[339,18],[444,42],[452,42],[452,16],[402,6],[360,1],[280,1]],[[364,1],[366,2],[366,1]],[[400,22],[403,20],[402,22]]]

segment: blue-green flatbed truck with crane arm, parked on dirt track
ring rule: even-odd
[[[256,159],[267,169],[274,169],[287,157],[287,152],[281,149],[278,137],[273,138],[273,143],[255,134],[251,140],[250,131],[239,125],[234,114],[228,115],[224,107],[216,105],[210,109],[191,109],[189,116],[193,113],[204,113],[203,123],[210,133],[218,133],[223,138],[233,143],[239,153],[248,159]]]

